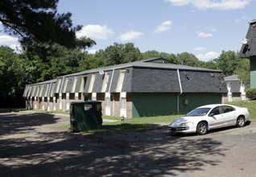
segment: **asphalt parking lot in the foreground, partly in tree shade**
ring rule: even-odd
[[[256,124],[209,134],[73,134],[69,117],[0,113],[0,176],[255,176]]]

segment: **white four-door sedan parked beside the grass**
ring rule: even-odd
[[[234,105],[204,105],[193,109],[184,117],[172,121],[170,132],[207,134],[209,130],[225,126],[245,126],[250,118],[246,108]]]

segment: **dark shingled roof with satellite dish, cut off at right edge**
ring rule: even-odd
[[[246,34],[247,43],[242,44],[239,57],[256,56],[256,20],[250,21],[250,26]]]

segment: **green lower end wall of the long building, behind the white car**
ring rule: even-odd
[[[132,117],[176,114],[177,96],[178,93],[133,93]],[[182,93],[179,103],[179,112],[188,113],[200,105],[221,103],[221,93]]]

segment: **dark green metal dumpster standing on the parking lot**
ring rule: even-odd
[[[76,101],[70,104],[70,128],[73,132],[101,129],[101,102]]]

